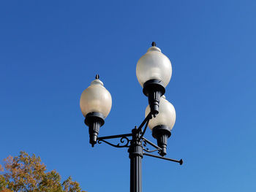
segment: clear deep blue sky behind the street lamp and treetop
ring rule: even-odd
[[[173,65],[167,157],[184,165],[145,156],[143,191],[256,191],[255,10],[256,1],[1,1],[0,159],[26,150],[89,192],[128,192],[127,150],[91,148],[80,93],[99,73],[113,98],[100,136],[129,133],[147,106],[136,64],[155,41]]]

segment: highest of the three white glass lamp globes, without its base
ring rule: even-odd
[[[162,80],[164,87],[170,82],[172,66],[169,58],[158,47],[150,47],[137,63],[136,75],[140,85],[148,80]]]

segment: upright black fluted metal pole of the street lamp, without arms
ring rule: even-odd
[[[132,141],[128,150],[131,162],[130,192],[142,192],[141,160],[143,158],[143,147],[137,130],[137,128],[132,129]]]

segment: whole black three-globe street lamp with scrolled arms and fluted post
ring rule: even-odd
[[[85,123],[89,126],[90,144],[92,147],[98,142],[107,143],[113,147],[127,147],[130,158],[130,191],[141,192],[141,160],[143,155],[155,158],[162,158],[167,161],[178,162],[181,160],[165,158],[167,139],[176,121],[176,112],[172,104],[165,99],[165,87],[170,82],[172,66],[169,58],[162,54],[156,43],[152,42],[145,55],[138,61],[136,75],[143,93],[148,97],[145,119],[132,129],[132,133],[118,134],[107,137],[98,137],[99,128],[105,123],[112,105],[111,95],[104,87],[103,82],[96,79],[83,91],[80,97],[80,109],[85,117]],[[152,130],[152,136],[157,139],[157,145],[146,139],[144,136],[146,128]],[[120,138],[120,143],[113,144],[108,139]],[[154,147],[148,150],[147,145]],[[157,151],[159,155],[151,153]]]

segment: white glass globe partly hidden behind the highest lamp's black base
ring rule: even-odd
[[[150,107],[146,107],[145,115],[147,116],[150,112]],[[165,96],[161,96],[159,103],[159,114],[156,118],[149,120],[148,127],[152,130],[155,126],[167,126],[172,130],[176,120],[176,112],[169,101],[165,99]]]

